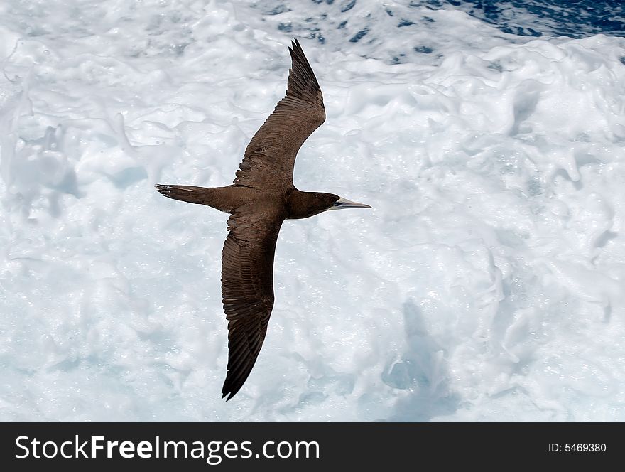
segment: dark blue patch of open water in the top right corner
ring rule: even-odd
[[[625,36],[625,0],[413,0],[411,6],[460,9],[521,36]]]

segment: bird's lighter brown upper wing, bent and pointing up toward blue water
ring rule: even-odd
[[[325,122],[323,95],[300,43],[289,48],[293,65],[285,97],[254,134],[234,183],[248,187],[293,183],[293,166],[300,146]]]

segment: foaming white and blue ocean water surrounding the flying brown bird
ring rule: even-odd
[[[0,3],[0,419],[625,421],[617,1]],[[327,121],[230,402],[222,186],[300,38]]]

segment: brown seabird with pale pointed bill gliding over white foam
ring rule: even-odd
[[[231,399],[258,358],[273,308],[273,254],[284,220],[326,210],[371,208],[332,193],[293,186],[300,146],[325,121],[323,96],[300,43],[285,97],[245,149],[234,184],[226,187],[157,185],[165,197],[230,213],[222,254],[222,298],[228,320],[228,372],[222,398]]]

